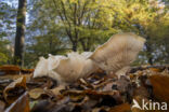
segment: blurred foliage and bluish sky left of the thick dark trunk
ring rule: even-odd
[[[12,64],[13,47],[9,37],[13,30],[15,10],[5,1],[0,2],[0,65]]]

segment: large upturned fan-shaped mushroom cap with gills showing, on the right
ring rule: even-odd
[[[145,39],[131,32],[114,34],[90,56],[107,73],[123,75],[143,48]]]

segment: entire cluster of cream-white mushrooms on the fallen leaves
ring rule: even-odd
[[[125,75],[130,64],[135,60],[143,48],[145,39],[131,32],[114,34],[106,43],[94,52],[81,54],[73,52],[67,56],[49,55],[49,58],[39,58],[34,78],[50,76],[58,84],[73,83],[88,76],[99,68],[108,75]]]

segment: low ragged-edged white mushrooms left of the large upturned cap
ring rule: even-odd
[[[73,83],[76,80],[91,74],[98,69],[95,64],[88,59],[91,53],[69,53],[65,56],[49,55],[48,59],[40,58],[34,78],[50,76],[60,84]]]

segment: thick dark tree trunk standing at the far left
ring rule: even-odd
[[[23,66],[25,43],[26,0],[18,0],[14,64]]]

